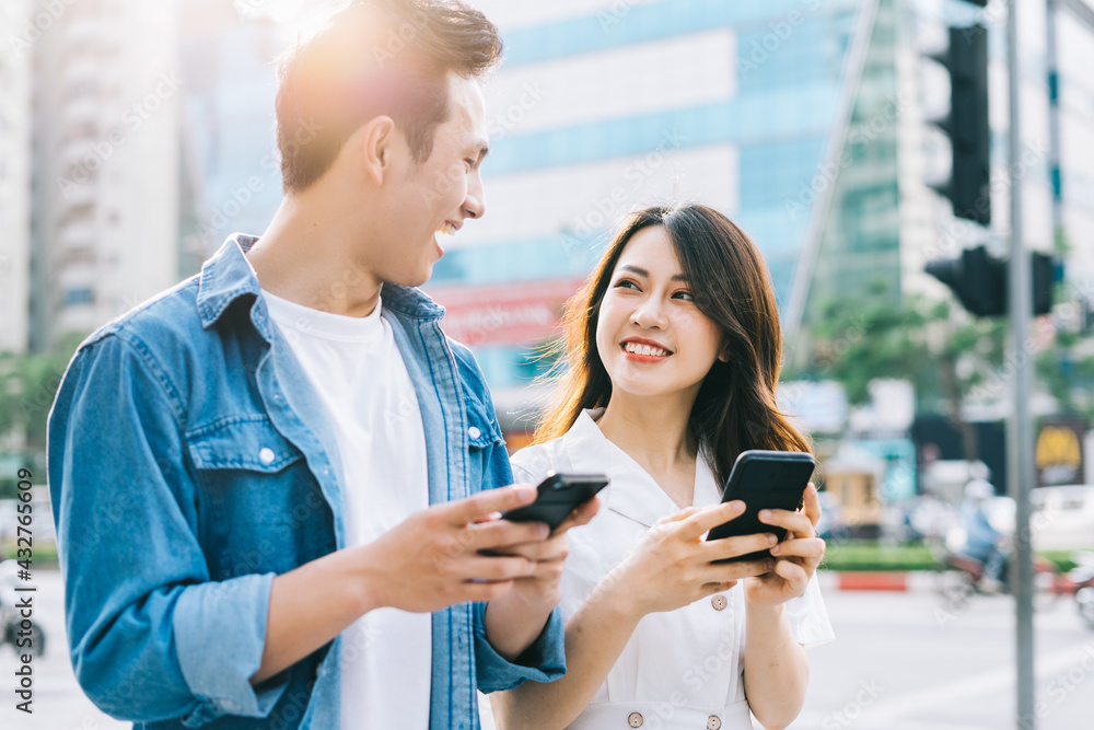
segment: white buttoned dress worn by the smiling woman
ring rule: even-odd
[[[594,421],[601,413],[583,412],[566,436],[512,457],[517,482],[538,484],[551,471],[606,473],[612,478],[601,493],[596,517],[568,533],[570,555],[560,603],[565,621],[654,522],[679,511],[645,470],[604,437]],[[698,460],[693,503],[720,500],[709,465]],[[785,605],[800,644],[835,638],[815,577],[802,598]],[[744,621],[741,584],[676,611],[644,616],[570,728],[752,730],[744,693]]]

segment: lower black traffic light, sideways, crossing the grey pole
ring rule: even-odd
[[[1052,285],[1057,279],[1052,257],[1034,252],[1033,313],[1052,311]],[[970,314],[1002,316],[1006,314],[1006,262],[993,258],[984,246],[966,248],[957,258],[928,262],[927,273],[950,287]]]

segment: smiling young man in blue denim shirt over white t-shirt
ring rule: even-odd
[[[498,519],[534,489],[494,488],[487,385],[414,288],[485,212],[500,48],[458,2],[336,15],[281,69],[266,232],[74,356],[49,483],[73,665],[107,712],[470,730],[476,687],[562,673],[566,538]]]

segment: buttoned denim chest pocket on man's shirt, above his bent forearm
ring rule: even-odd
[[[232,416],[187,433],[206,499],[199,540],[213,579],[284,572],[333,545],[319,545],[330,511],[304,454],[263,414]],[[330,541],[326,541],[330,542]]]

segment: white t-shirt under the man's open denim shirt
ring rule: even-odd
[[[418,396],[381,302],[351,317],[263,291],[270,316],[326,406],[346,482],[346,545],[372,542],[429,506]],[[341,727],[429,727],[428,613],[369,612],[341,634]]]

